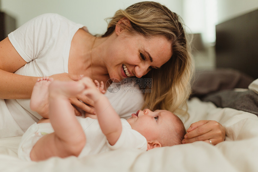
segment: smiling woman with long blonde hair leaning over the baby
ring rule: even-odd
[[[190,94],[193,68],[184,29],[177,14],[156,2],[117,11],[100,37],[57,14],[44,14],[10,33],[0,48],[0,106],[7,121],[2,122],[1,137],[22,134],[41,118],[24,99],[42,76],[78,80],[84,75],[106,83],[145,75],[152,78],[152,91],[145,93],[143,106],[172,112],[185,105]],[[142,105],[142,95],[137,96],[129,94],[130,101],[123,95],[132,111]],[[78,99],[94,106],[92,100],[70,98],[71,104],[94,114]]]

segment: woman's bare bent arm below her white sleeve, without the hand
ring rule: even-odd
[[[0,98],[30,98],[38,77],[13,74],[27,62],[15,50],[9,38],[0,42]]]

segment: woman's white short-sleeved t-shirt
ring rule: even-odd
[[[68,58],[71,41],[82,24],[58,14],[43,14],[28,21],[8,35],[13,47],[28,62],[15,73],[26,76],[51,76],[68,73]],[[128,118],[143,105],[143,95],[127,92],[121,86],[119,92],[109,98],[116,112]],[[0,99],[0,138],[22,135],[41,116],[30,110],[30,99]]]

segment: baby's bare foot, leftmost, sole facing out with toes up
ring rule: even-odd
[[[30,108],[33,111],[38,112],[44,118],[48,118],[49,113],[49,84],[53,81],[53,78],[42,77],[37,80],[33,87]]]

